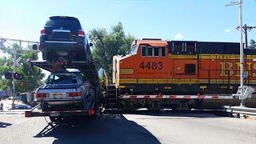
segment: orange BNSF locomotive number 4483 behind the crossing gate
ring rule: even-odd
[[[244,51],[245,85],[255,86],[256,50]],[[130,54],[113,58],[113,82],[122,110],[191,109],[220,100],[238,103],[225,95],[237,92],[239,77],[235,42],[143,38],[132,43]]]

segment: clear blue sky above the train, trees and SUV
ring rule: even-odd
[[[234,0],[235,1],[235,0]],[[38,41],[53,15],[78,18],[84,30],[122,22],[135,38],[239,42],[238,6],[230,0],[1,0],[0,37]],[[243,22],[256,26],[256,0],[244,0]],[[256,39],[256,29],[249,39]]]

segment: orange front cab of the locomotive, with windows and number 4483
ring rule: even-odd
[[[140,89],[142,85],[167,81],[172,66],[167,62],[167,47],[167,42],[161,39],[143,38],[132,43],[129,54],[114,56],[113,82],[116,87],[126,89],[132,94],[145,93],[145,90]],[[150,88],[152,93],[159,89],[160,87],[155,85]]]

